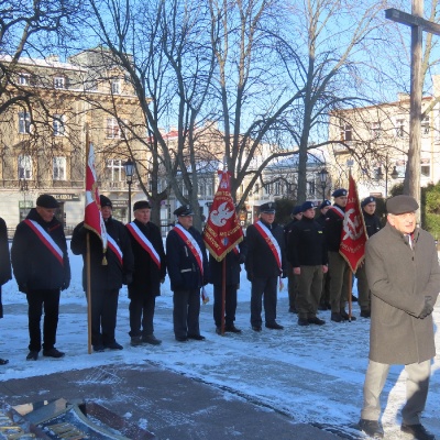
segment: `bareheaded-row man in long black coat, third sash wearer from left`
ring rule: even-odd
[[[129,284],[130,337],[132,345],[161,344],[154,336],[153,318],[156,296],[166,275],[166,261],[161,230],[150,221],[146,200],[133,205],[134,221],[125,224],[134,255],[133,280]],[[142,324],[142,330],[141,330]]]

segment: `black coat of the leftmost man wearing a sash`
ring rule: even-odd
[[[55,218],[45,222],[35,208],[26,219],[37,222],[59,246],[63,265],[35,232],[24,221],[20,222],[11,248],[12,267],[20,292],[66,288],[70,283],[70,264],[63,224]]]

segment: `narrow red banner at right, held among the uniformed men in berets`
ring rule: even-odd
[[[349,197],[345,207],[341,244],[339,253],[344,257],[352,272],[356,272],[359,265],[364,260],[366,230],[364,216],[362,216],[359,202],[356,184],[350,175]]]

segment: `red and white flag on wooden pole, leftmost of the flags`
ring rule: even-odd
[[[86,169],[86,210],[84,215],[84,227],[95,232],[102,241],[102,252],[107,250],[107,231],[101,215],[99,190],[95,169],[94,146],[89,145]]]

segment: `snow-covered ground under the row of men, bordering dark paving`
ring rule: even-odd
[[[129,299],[127,288],[120,293],[117,340],[124,350],[88,354],[86,301],[81,287],[81,257],[70,254],[73,280],[62,293],[57,332],[58,350],[65,351],[62,360],[38,358],[25,361],[28,354],[28,305],[18,292],[14,280],[3,285],[4,318],[0,320],[0,358],[9,364],[0,366],[0,380],[37,377],[56,372],[81,370],[111,363],[139,364],[145,362],[145,350],[130,346]],[[288,312],[286,287],[278,295],[282,331],[263,328],[255,333],[250,327],[250,283],[242,271],[235,326],[241,336],[216,334],[211,297],[201,306],[200,330],[206,341],[179,343],[173,333],[173,296],[166,278],[162,295],[156,300],[155,336],[162,345],[148,346],[146,362],[168,371],[201,378],[205,383],[235,393],[292,416],[297,422],[334,424],[350,426],[358,422],[362,406],[362,386],[367,365],[370,320],[336,323],[330,312],[320,312],[326,326],[299,327],[297,317]],[[354,288],[355,292],[355,288]],[[436,346],[440,351],[440,301],[433,311]],[[121,361],[122,355],[122,361]],[[260,369],[251,367],[258,362]],[[440,438],[440,354],[432,363],[432,377],[424,425]],[[387,438],[399,438],[399,409],[405,400],[405,372],[393,366],[385,385],[383,424]],[[388,437],[389,435],[389,437]]]

